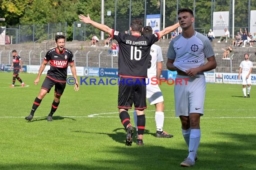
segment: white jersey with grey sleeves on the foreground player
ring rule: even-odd
[[[172,39],[167,52],[169,59],[176,59],[173,65],[183,72],[204,65],[205,57],[212,56],[214,52],[211,42],[196,31],[191,38],[184,38],[180,34]]]

